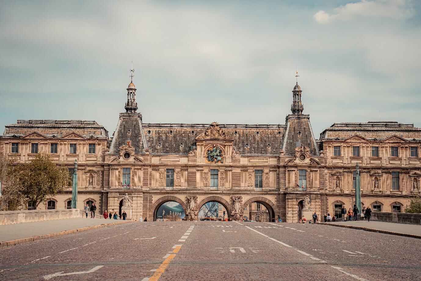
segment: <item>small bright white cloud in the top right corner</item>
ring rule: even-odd
[[[356,16],[405,19],[413,14],[408,0],[361,0],[335,8],[332,13],[318,11],[313,18],[320,24],[328,24],[335,20],[348,21]]]

